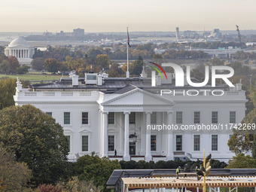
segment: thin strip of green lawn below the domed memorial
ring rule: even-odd
[[[52,80],[59,80],[59,78],[62,77],[62,75],[41,75],[41,74],[26,74],[26,75],[5,75],[0,74],[0,78],[20,78],[20,80],[23,81],[52,81]],[[69,75],[64,75],[63,77],[68,78]]]

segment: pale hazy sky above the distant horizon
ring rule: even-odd
[[[256,29],[255,0],[0,0],[0,32]]]

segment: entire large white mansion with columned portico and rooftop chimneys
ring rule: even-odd
[[[113,82],[127,81],[129,85],[113,91]],[[227,162],[233,157],[227,146],[233,132],[225,125],[240,123],[245,117],[245,91],[224,90],[223,96],[200,93],[192,98],[182,94],[160,96],[136,87],[137,81],[140,80],[104,78],[99,86],[81,83],[80,78],[78,84],[72,85],[72,78],[63,78],[62,84],[41,84],[29,89],[17,82],[14,100],[17,105],[35,105],[63,126],[70,139],[70,160],[93,151],[100,157],[118,160],[197,160],[203,158],[203,149],[214,159]],[[175,124],[180,128],[202,123],[224,127],[204,131],[147,129],[147,125]]]

